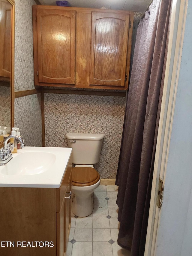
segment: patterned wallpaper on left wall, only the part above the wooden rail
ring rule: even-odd
[[[33,0],[15,1],[15,92],[34,89]]]

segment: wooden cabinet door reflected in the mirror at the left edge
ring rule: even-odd
[[[0,0],[0,8],[0,76],[10,77],[12,5],[5,0]]]

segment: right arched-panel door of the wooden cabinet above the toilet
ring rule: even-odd
[[[90,84],[125,86],[130,14],[92,12]]]

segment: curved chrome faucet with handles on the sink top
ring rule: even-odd
[[[17,136],[17,135],[9,135],[5,140],[4,140],[4,149],[0,150],[0,165],[7,164],[13,157],[11,154],[10,146],[7,145],[7,141],[10,138],[15,138],[21,143],[21,148],[25,147],[25,144],[23,143],[23,140]]]

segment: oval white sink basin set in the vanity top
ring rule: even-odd
[[[1,173],[5,175],[44,173],[54,164],[55,159],[55,154],[49,152],[22,152],[5,164]]]

